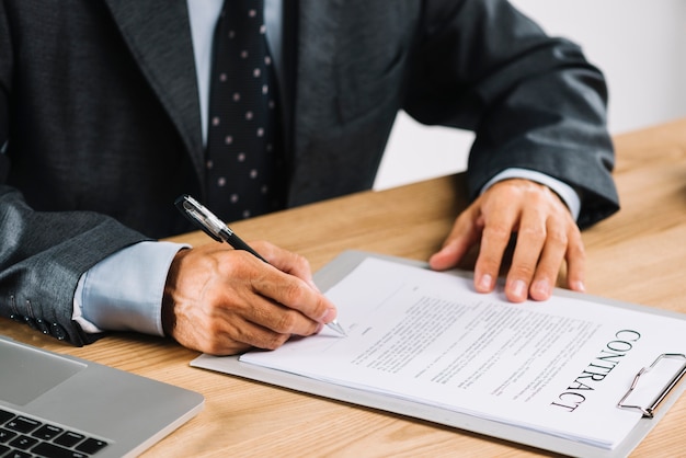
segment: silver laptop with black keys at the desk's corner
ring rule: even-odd
[[[136,456],[204,403],[194,391],[0,336],[0,457]]]

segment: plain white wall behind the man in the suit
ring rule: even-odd
[[[511,0],[550,35],[580,44],[608,81],[613,134],[686,116],[686,0]],[[472,134],[401,113],[375,188],[465,170]]]

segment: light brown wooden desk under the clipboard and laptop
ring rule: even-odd
[[[622,209],[583,233],[591,294],[686,312],[686,119],[618,136]],[[235,229],[307,256],[313,270],[345,249],[426,260],[466,201],[462,176],[367,192],[266,217]],[[456,197],[458,195],[458,197]],[[179,239],[180,240],[180,239]],[[208,243],[203,233],[183,238]],[[197,417],[153,446],[171,456],[534,456],[516,444],[191,368],[196,353],[118,334],[75,348],[0,320],[0,333],[153,379],[206,398]],[[633,456],[684,454],[681,399]]]

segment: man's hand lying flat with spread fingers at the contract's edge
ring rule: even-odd
[[[492,291],[511,237],[516,232],[505,295],[513,302],[550,297],[562,261],[567,283],[584,290],[584,248],[579,227],[550,188],[528,180],[505,180],[491,186],[462,211],[441,251],[430,259],[434,270],[455,266],[481,242],[475,287]]]

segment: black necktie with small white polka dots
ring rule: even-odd
[[[207,204],[227,220],[282,207],[278,107],[263,2],[226,0],[215,30]]]

